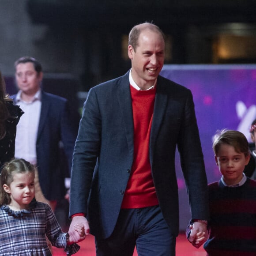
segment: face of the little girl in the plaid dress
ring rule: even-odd
[[[10,186],[4,184],[4,190],[11,196],[12,210],[26,209],[35,195],[34,173],[15,173]]]

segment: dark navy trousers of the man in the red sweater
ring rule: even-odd
[[[95,237],[97,256],[175,256],[176,237],[166,224],[160,207],[121,209],[112,235]]]

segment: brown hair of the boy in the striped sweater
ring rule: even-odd
[[[227,129],[217,131],[212,144],[212,149],[216,156],[218,155],[219,148],[222,144],[234,147],[237,153],[244,153],[245,156],[250,154],[248,140],[241,132]]]

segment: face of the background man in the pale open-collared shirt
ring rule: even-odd
[[[20,63],[16,66],[15,78],[19,90],[25,94],[33,95],[40,88],[42,72],[38,74],[32,62]]]

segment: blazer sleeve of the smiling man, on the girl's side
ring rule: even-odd
[[[83,114],[79,124],[75,142],[71,172],[70,212],[87,215],[94,167],[100,151],[101,116],[95,90],[90,89],[83,106]]]

